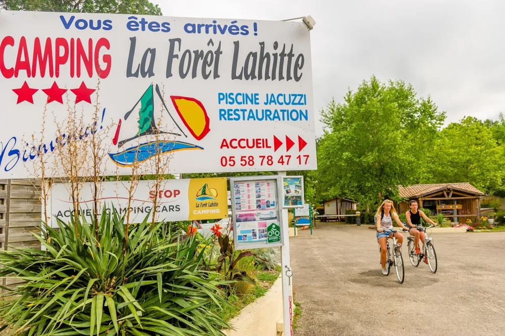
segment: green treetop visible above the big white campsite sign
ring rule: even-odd
[[[149,0],[0,0],[0,9],[10,11],[162,15],[160,7]]]

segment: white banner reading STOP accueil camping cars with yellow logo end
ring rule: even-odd
[[[228,217],[226,178],[171,179],[161,182],[158,192],[155,181],[140,180],[130,202],[130,223],[141,223],[152,215],[157,199],[158,221],[220,219]],[[128,209],[129,182],[101,182],[99,184],[98,213],[114,207],[120,215]],[[88,221],[93,213],[93,184],[85,183],[79,196],[80,214]],[[51,188],[51,213],[65,223],[74,214],[70,185],[55,183]],[[148,219],[150,220],[151,217]],[[126,218],[125,218],[126,219]],[[53,221],[53,226],[57,226]]]

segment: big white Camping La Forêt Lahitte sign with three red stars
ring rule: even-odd
[[[105,175],[160,151],[171,173],[317,168],[301,22],[3,11],[0,27],[0,178],[95,132]],[[69,108],[79,134],[58,132]]]

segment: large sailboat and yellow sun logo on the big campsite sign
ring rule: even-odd
[[[167,111],[168,115],[172,119],[173,123],[177,127],[178,131],[168,132],[160,130],[156,125],[156,120],[154,117],[154,92],[156,93],[163,103],[164,109]],[[179,118],[184,123],[184,126],[189,131],[189,133],[196,139],[201,140],[204,138],[209,129],[209,117],[204,106],[196,99],[181,96],[170,96],[172,103],[177,111]],[[169,136],[183,137],[187,139],[188,135],[183,131],[183,129],[177,124],[174,117],[170,113],[163,97],[160,93],[160,88],[158,84],[154,86],[150,84],[145,92],[141,95],[140,99],[135,103],[135,105],[126,112],[124,120],[127,120],[132,112],[140,104],[140,109],[138,110],[138,131],[131,137],[126,137],[120,141],[120,129],[121,122],[119,120],[118,127],[116,129],[116,134],[113,139],[113,144],[117,145],[118,148],[123,147],[129,141],[139,139],[140,137],[149,138],[150,135],[156,134],[168,134]],[[152,138],[152,137],[151,137]],[[140,139],[136,141],[135,146],[129,147],[118,153],[109,153],[109,156],[113,162],[121,167],[130,167],[132,165],[144,162],[153,158],[156,155],[163,155],[171,152],[183,151],[183,150],[203,150],[203,147],[194,145],[193,143],[180,141],[180,140],[152,140],[140,143]]]

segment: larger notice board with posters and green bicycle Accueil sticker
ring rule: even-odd
[[[278,176],[230,178],[235,250],[282,246]]]

